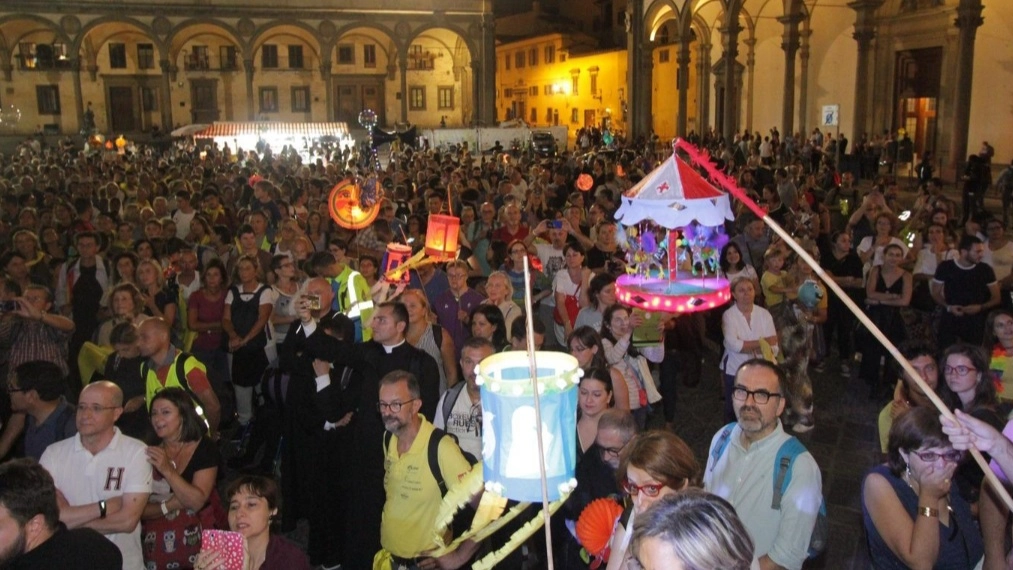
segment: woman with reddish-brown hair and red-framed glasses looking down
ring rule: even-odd
[[[663,497],[699,487],[700,464],[686,441],[675,433],[645,431],[623,447],[616,480],[629,501],[612,535],[607,570],[639,569],[630,548],[636,517]]]

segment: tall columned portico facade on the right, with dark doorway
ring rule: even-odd
[[[1013,157],[1013,140],[1006,136],[1013,129],[1013,111],[1001,102],[1013,94],[1008,63],[1013,2],[534,4],[553,14],[558,25],[593,36],[600,46],[615,45],[617,34],[625,35],[626,118],[634,135],[667,138],[711,129],[725,136],[747,129],[766,135],[775,127],[781,133],[820,128],[833,133],[839,129],[855,141],[884,133],[895,136],[904,129],[919,156],[932,152],[937,167],[950,179],[984,141],[996,148],[997,162]],[[502,44],[497,55],[504,48],[519,48],[522,40],[534,42],[502,37],[499,23],[496,32]],[[502,57],[498,60],[502,74]],[[512,73],[517,75],[517,70]],[[497,89],[502,112],[500,79]],[[839,109],[838,125],[825,125],[827,106]]]

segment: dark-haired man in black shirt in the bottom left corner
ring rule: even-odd
[[[0,465],[0,568],[94,570],[123,567],[120,549],[91,528],[60,521],[53,477],[33,460]]]

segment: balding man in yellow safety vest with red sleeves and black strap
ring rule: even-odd
[[[168,323],[158,317],[145,320],[138,328],[138,348],[147,358],[141,364],[141,376],[145,381],[148,408],[155,394],[166,388],[182,388],[214,434],[218,430],[222,406],[208,380],[208,369],[192,354],[179,351],[169,338]]]

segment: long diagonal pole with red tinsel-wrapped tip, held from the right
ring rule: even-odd
[[[780,224],[778,224],[774,220],[771,220],[771,218],[767,216],[767,213],[763,210],[763,208],[761,208],[760,205],[758,205],[756,201],[753,200],[753,198],[747,195],[746,192],[738,187],[738,185],[730,176],[728,176],[723,172],[720,172],[710,162],[710,159],[707,155],[700,152],[693,145],[682,139],[676,140],[673,146],[675,150],[682,150],[687,155],[689,155],[697,166],[700,166],[707,171],[707,174],[710,176],[711,180],[717,182],[718,184],[721,185],[722,188],[724,188],[730,194],[738,198],[744,205],[746,205],[747,208],[753,211],[754,214],[759,216],[764,221],[764,224],[767,224],[767,226],[770,229],[774,230],[774,233],[780,236],[780,238],[784,240],[784,243],[788,244],[788,246],[790,246],[791,249],[793,249],[795,253],[798,254],[798,257],[800,259],[805,261],[805,263],[808,264],[809,267],[812,267],[812,271],[816,275],[819,275],[820,278],[823,279],[825,283],[827,283],[827,286],[834,292],[834,294],[837,295],[838,299],[840,299],[841,302],[844,303],[846,307],[848,307],[848,310],[855,315],[855,317],[859,320],[859,322],[861,322],[862,325],[864,325],[865,328],[868,329],[870,333],[872,333],[872,336],[874,336],[875,339],[878,340],[879,343],[882,344],[884,348],[886,348],[886,351],[889,352],[894,359],[897,359],[897,361],[901,364],[901,368],[904,370],[904,372],[907,373],[908,376],[911,377],[911,379],[914,380],[916,384],[918,384],[918,387],[921,388],[922,392],[925,393],[925,395],[929,398],[929,400],[932,401],[932,405],[934,405],[936,409],[939,410],[939,413],[949,418],[954,423],[959,423],[957,422],[956,417],[949,410],[949,408],[946,407],[946,404],[944,404],[943,401],[939,399],[939,396],[936,395],[935,390],[929,387],[929,385],[926,384],[924,380],[922,380],[922,376],[918,374],[918,371],[916,371],[915,368],[911,365],[911,362],[907,358],[905,358],[903,354],[901,354],[901,351],[898,350],[897,346],[892,342],[890,342],[888,338],[886,338],[886,335],[884,335],[881,330],[879,330],[879,327],[877,327],[875,323],[873,323],[868,318],[868,316],[865,315],[865,312],[862,311],[858,307],[858,305],[856,305],[855,302],[851,300],[851,297],[849,297],[848,294],[845,293],[843,289],[841,289],[841,286],[837,284],[837,281],[835,281],[830,275],[827,274],[826,271],[824,271],[823,267],[820,266],[820,263],[817,263],[816,260],[813,259],[812,256],[809,255],[809,253],[805,251],[805,249],[801,245],[799,245],[798,242],[796,242],[795,239],[792,238],[791,235],[784,230],[784,228],[780,226]],[[970,456],[975,458],[976,462],[978,462],[979,467],[982,468],[982,472],[985,473],[985,478],[988,479],[989,483],[992,484],[993,489],[995,489],[996,493],[998,493],[1000,498],[1002,498],[1003,502],[1006,504],[1006,507],[1009,508],[1010,510],[1013,510],[1013,498],[1010,497],[1010,494],[1006,490],[1006,487],[999,481],[999,478],[996,476],[996,474],[992,472],[992,469],[989,467],[989,463],[985,461],[984,457],[982,457],[982,453],[976,450],[975,447],[971,447]]]

